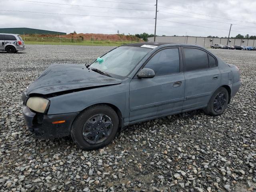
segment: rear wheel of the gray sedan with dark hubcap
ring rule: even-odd
[[[212,95],[204,112],[211,116],[221,115],[228,105],[229,95],[224,87],[218,88]]]

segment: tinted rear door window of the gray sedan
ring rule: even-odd
[[[207,53],[194,48],[184,48],[185,71],[209,68]]]

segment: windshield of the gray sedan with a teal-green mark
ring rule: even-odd
[[[98,58],[89,68],[125,77],[150,51],[148,48],[121,46]]]

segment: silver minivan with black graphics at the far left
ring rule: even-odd
[[[16,53],[25,50],[25,43],[17,34],[0,33],[0,51]]]

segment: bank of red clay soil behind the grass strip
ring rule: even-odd
[[[37,37],[59,37],[58,35],[26,35]],[[67,34],[61,35],[61,38],[84,38],[94,40],[128,40],[128,41],[143,41],[134,35],[122,35],[122,34],[94,34],[94,33],[79,33],[79,34]]]

